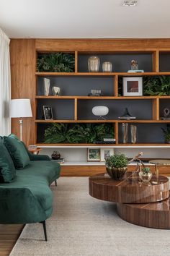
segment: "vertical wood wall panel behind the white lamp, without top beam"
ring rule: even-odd
[[[10,43],[12,98],[30,98],[35,116],[35,39],[12,39]],[[23,141],[35,142],[34,118],[23,119]],[[19,120],[12,119],[12,132],[19,136]]]

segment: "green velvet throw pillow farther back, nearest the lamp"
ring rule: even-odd
[[[29,155],[22,141],[12,135],[9,135],[9,137],[4,136],[4,145],[12,157],[15,168],[21,169],[30,163]]]

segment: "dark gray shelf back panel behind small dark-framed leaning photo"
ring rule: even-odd
[[[53,118],[58,120],[74,119],[74,101],[62,99],[38,99],[37,119],[42,119],[43,106],[51,106]]]

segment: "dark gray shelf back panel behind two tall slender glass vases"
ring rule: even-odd
[[[134,124],[137,126],[137,143],[164,143],[164,133],[161,128],[166,129],[166,124]],[[128,129],[128,143],[130,139],[130,124]],[[122,143],[122,124],[119,124],[119,143]]]

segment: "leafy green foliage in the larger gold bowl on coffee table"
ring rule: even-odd
[[[128,158],[124,155],[111,155],[106,159],[106,166],[115,167],[115,168],[123,168],[128,165]]]

